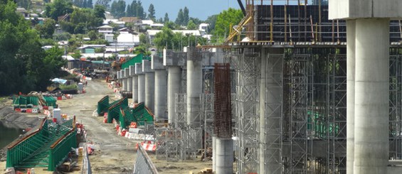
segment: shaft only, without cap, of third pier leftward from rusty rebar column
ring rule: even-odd
[[[155,111],[157,122],[166,120],[166,96],[167,96],[166,70],[155,70]]]

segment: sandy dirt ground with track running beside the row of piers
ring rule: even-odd
[[[115,96],[104,80],[88,81],[85,94],[74,95],[73,99],[59,100],[58,104],[62,114],[75,115],[76,120],[84,124],[88,140],[95,144],[95,153],[90,156],[92,173],[132,173],[137,158],[137,152],[134,151],[137,142],[118,136],[113,124],[102,123],[101,116],[92,116],[97,102],[105,95],[111,98]],[[157,160],[154,153],[149,153],[149,157],[159,173],[197,173],[204,168],[212,168],[211,161],[168,163]],[[5,165],[5,161],[0,162],[0,172],[4,171]],[[45,173],[38,170],[35,172]]]

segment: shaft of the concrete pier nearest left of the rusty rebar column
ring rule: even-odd
[[[187,60],[187,124],[198,127],[201,125],[200,94],[202,92],[201,60]]]

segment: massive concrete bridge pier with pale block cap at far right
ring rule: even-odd
[[[354,113],[347,111],[347,121],[354,117],[354,125],[347,123],[347,157],[354,153],[347,161],[347,173],[386,173],[388,169],[389,21],[401,17],[399,0],[329,1],[329,19],[347,20],[347,58],[351,59],[347,78],[348,83],[354,80],[347,87],[347,97],[354,93],[354,99],[347,100],[347,107],[354,106],[348,108]]]

